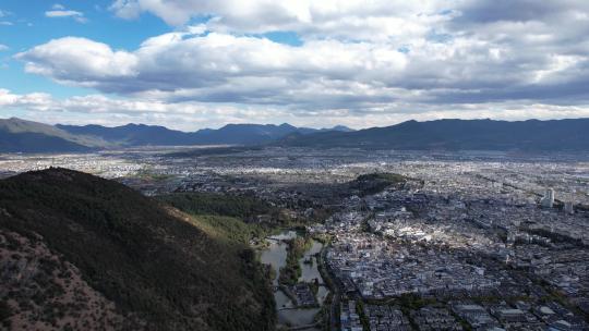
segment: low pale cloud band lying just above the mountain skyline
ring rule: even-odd
[[[284,122],[298,126],[324,127],[337,124],[361,128],[392,125],[416,119],[419,121],[461,118],[526,120],[589,118],[589,105],[562,107],[544,103],[519,105],[510,102],[454,105],[420,105],[418,111],[407,111],[407,105],[388,103],[382,109],[358,113],[347,109],[322,111],[299,110],[284,107],[236,106],[203,103],[195,101],[165,102],[134,99],[113,99],[103,95],[71,97],[64,100],[48,94],[15,95],[0,89],[0,107],[3,117],[26,113],[33,121],[46,123],[107,125],[145,123],[171,128],[194,131],[202,127],[219,127],[227,123]],[[14,111],[14,112],[12,112]],[[321,121],[317,121],[317,115]]]

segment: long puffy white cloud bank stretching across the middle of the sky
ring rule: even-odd
[[[545,47],[555,52],[538,51]],[[578,88],[545,93],[582,86],[587,53],[560,54],[545,42],[521,52],[479,36],[456,36],[452,42],[423,37],[413,39],[409,52],[398,48],[337,39],[293,47],[191,27],[149,38],[134,51],[69,37],[16,58],[27,72],[58,82],[161,100],[366,109],[393,101],[588,99]]]

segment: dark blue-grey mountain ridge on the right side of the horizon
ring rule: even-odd
[[[589,150],[589,119],[408,121],[356,132],[290,135],[281,146],[414,150]]]

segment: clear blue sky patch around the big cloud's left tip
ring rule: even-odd
[[[80,87],[55,84],[50,78],[25,74],[23,63],[12,60],[11,56],[27,50],[50,39],[80,36],[101,40],[115,48],[136,48],[146,38],[166,33],[170,27],[153,15],[145,15],[134,21],[120,20],[108,10],[111,1],[45,1],[45,0],[3,0],[0,10],[8,12],[2,22],[12,25],[0,26],[0,44],[9,50],[1,54],[8,65],[1,71],[0,87],[17,94],[46,91],[64,98],[88,94],[91,90]],[[84,13],[86,23],[71,17],[47,17],[55,4],[68,10]]]

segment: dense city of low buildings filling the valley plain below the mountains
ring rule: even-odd
[[[149,196],[251,195],[281,208],[317,241],[300,257],[312,277],[275,281],[285,330],[589,330],[589,161],[557,159],[178,148],[4,155],[0,176],[67,167]],[[385,185],[349,184],[360,179]]]

